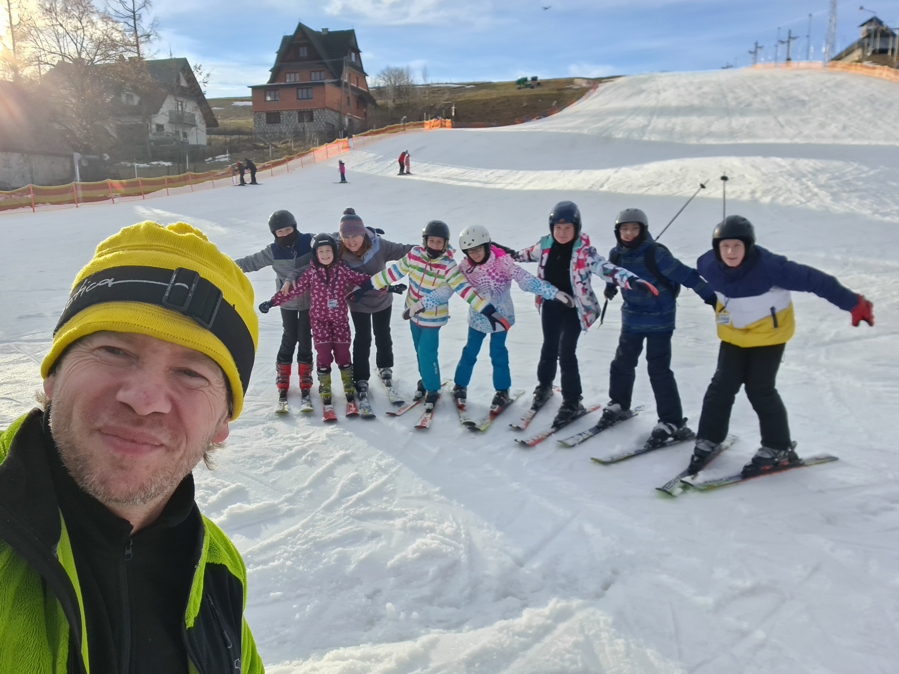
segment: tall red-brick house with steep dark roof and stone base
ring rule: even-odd
[[[376,106],[356,31],[313,31],[298,23],[281,38],[266,84],[254,84],[253,128],[260,137],[331,140],[369,128]]]

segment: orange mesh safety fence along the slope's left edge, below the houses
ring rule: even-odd
[[[423,120],[405,124],[393,124],[383,129],[372,129],[352,138],[338,138],[323,146],[313,147],[296,155],[286,155],[270,162],[256,164],[256,173],[269,172],[270,175],[289,173],[306,164],[316,164],[326,159],[349,152],[353,147],[369,145],[380,137],[430,129],[451,129],[450,120]],[[67,185],[41,186],[26,185],[13,191],[0,191],[0,211],[19,208],[75,207],[99,201],[144,200],[164,194],[180,194],[186,191],[214,190],[233,184],[234,172],[230,166],[205,173],[180,173],[163,175],[158,178],[129,178],[128,180],[105,180],[100,182],[69,182]],[[218,182],[218,185],[217,185]]]

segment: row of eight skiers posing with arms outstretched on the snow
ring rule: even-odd
[[[690,474],[698,473],[717,454],[727,434],[734,397],[743,385],[761,426],[761,448],[744,474],[797,459],[787,412],[776,388],[780,359],[794,331],[791,290],[813,292],[850,311],[853,325],[874,324],[873,305],[865,297],[823,271],[757,245],[752,224],[741,216],[726,217],[715,227],[712,248],[699,257],[698,269],[654,241],[639,208],[619,213],[614,224],[617,244],[609,258],[603,258],[583,232],[580,210],[572,201],[556,204],[549,214],[547,235],[517,251],[494,242],[484,226],[467,226],[459,235],[464,254],[459,264],[453,259],[449,226],[441,220],[424,226],[421,244],[387,241],[381,230],[364,226],[352,208],[343,212],[336,235],[300,234],[295,218],[284,210],[271,215],[269,228],[275,242],[236,263],[245,271],[268,265],[275,270],[278,292],[260,310],[281,307],[284,334],[276,386],[284,399],[295,348],[301,393],[308,398],[312,339],[323,403],[331,403],[333,360],[348,401],[354,396],[367,401],[372,333],[378,377],[391,387],[392,300],[388,293],[407,290],[403,317],[410,322],[421,377],[414,400],[423,400],[427,412],[440,395],[439,334],[449,319],[449,297],[456,293],[467,301],[469,312],[467,343],[455,371],[452,395],[457,404],[465,404],[472,369],[489,334],[495,389],[491,412],[501,412],[511,402],[505,341],[515,322],[510,295],[514,279],[522,290],[536,296],[543,332],[531,410],[539,410],[553,395],[556,371],[561,368],[562,404],[553,422],[554,428],[559,427],[586,412],[576,349],[581,333],[601,315],[592,288],[592,276],[596,276],[605,282],[607,300],[619,290],[623,300],[619,344],[610,366],[610,401],[602,410],[601,422],[611,425],[632,415],[636,365],[645,343],[658,415],[650,442],[663,445],[693,439],[671,369],[676,298],[681,286],[691,288],[714,310],[721,344],[695,434]],[[396,262],[388,266],[389,261]],[[516,262],[537,262],[537,276]],[[404,278],[408,287],[398,284]],[[352,358],[350,318],[355,327]]]

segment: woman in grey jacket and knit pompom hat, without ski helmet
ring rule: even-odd
[[[362,223],[356,211],[347,208],[340,218],[341,261],[353,271],[374,276],[387,269],[387,262],[400,260],[413,244],[394,244]],[[405,289],[405,288],[404,288]],[[375,334],[378,377],[385,386],[393,386],[393,340],[390,338],[390,310],[393,293],[366,293],[358,302],[349,302],[355,336],[352,340],[353,375],[360,398],[368,397],[371,333]]]

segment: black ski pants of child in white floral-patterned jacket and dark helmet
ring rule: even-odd
[[[540,324],[543,326],[543,346],[537,366],[537,380],[549,386],[556,379],[556,363],[562,368],[562,397],[565,400],[581,397],[581,374],[577,369],[577,341],[581,337],[581,322],[577,309],[568,308],[555,300],[543,300],[540,305]]]

